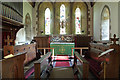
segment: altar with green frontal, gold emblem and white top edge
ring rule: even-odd
[[[72,49],[75,43],[50,43],[50,48],[54,48],[54,55],[72,55]],[[74,53],[74,50],[73,50]]]

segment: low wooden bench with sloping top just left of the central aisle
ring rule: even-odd
[[[34,63],[36,79],[47,78],[49,76],[50,71],[53,68],[51,56],[52,53],[48,52]]]

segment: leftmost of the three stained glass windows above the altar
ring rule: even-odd
[[[45,34],[50,34],[50,9],[45,10]]]

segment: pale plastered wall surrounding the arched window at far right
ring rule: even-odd
[[[94,40],[100,41],[100,28],[101,28],[101,12],[104,6],[107,5],[110,9],[110,37],[116,34],[118,37],[118,3],[117,2],[97,2],[93,7],[93,36]]]

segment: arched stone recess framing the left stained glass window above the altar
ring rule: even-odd
[[[49,8],[50,9],[50,34],[53,34],[53,26],[54,26],[54,13],[53,13],[53,4],[51,2],[43,2],[39,3],[38,5],[38,33],[37,36],[39,35],[45,35],[45,10]],[[43,33],[41,33],[43,31]]]

